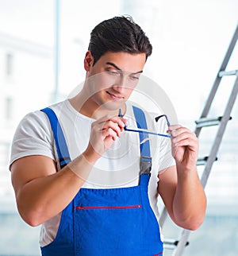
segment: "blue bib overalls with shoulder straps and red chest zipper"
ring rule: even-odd
[[[56,141],[60,167],[70,155],[52,109],[45,108]],[[144,112],[133,107],[139,128],[147,129]],[[140,142],[148,135],[140,134]],[[148,200],[151,157],[149,141],[140,144],[140,183],[129,188],[80,188],[62,211],[56,239],[41,247],[43,256],[163,255],[159,224]]]

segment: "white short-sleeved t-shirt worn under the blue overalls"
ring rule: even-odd
[[[90,138],[91,123],[95,120],[79,114],[68,100],[51,106],[59,118],[63,134],[67,141],[71,160],[84,152]],[[158,114],[146,115],[148,130],[166,133],[166,122],[155,122]],[[137,129],[132,106],[127,103],[125,118],[127,126]],[[157,208],[158,173],[175,161],[171,156],[171,140],[160,136],[149,135],[152,156],[152,175],[148,187],[148,196],[153,211],[159,218]],[[21,157],[43,155],[51,157],[59,166],[56,145],[48,117],[42,111],[29,113],[17,127],[13,138],[10,165]],[[96,162],[83,188],[123,188],[139,184],[140,172],[140,139],[139,134],[124,131],[113,146]],[[40,246],[53,241],[59,227],[61,213],[49,219],[41,226]]]

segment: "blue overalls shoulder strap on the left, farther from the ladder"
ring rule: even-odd
[[[63,135],[63,130],[59,124],[56,113],[50,107],[46,107],[40,111],[43,111],[45,114],[47,114],[49,122],[52,126],[52,131],[56,142],[56,149],[59,157],[59,165],[60,169],[62,169],[63,166],[67,165],[71,161],[71,157],[67,149],[67,142]]]

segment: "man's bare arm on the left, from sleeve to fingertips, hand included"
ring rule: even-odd
[[[17,208],[26,223],[39,225],[67,207],[95,161],[120,136],[124,123],[121,119],[104,117],[94,122],[86,151],[60,172],[56,172],[56,164],[49,157],[36,155],[13,162],[11,173]]]

